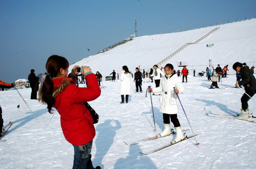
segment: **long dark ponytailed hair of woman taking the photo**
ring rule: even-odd
[[[53,82],[52,77],[56,77],[60,69],[67,69],[69,67],[69,62],[66,58],[53,55],[50,56],[46,62],[47,76],[44,79],[43,85],[40,89],[39,101],[47,104],[47,109],[49,113],[53,113],[52,107],[55,103],[55,98],[53,98]]]

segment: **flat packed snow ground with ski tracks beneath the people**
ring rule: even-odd
[[[100,115],[99,122],[95,124],[96,136],[91,152],[94,166],[100,165],[105,169],[256,168],[256,124],[204,115],[208,110],[223,115],[234,115],[240,111],[243,93],[233,87],[235,80],[234,75],[229,75],[222,79],[225,89],[208,89],[211,82],[206,78],[189,75],[180,99],[194,133],[201,133],[196,137],[199,146],[194,145],[195,140],[191,138],[148,156],[139,152],[165,145],[174,136],[132,146],[123,141],[155,136],[164,128],[162,114],[159,113],[159,96],[152,96],[157,129],[154,132],[150,97],[145,97],[148,83],[143,83],[143,93],[135,93],[135,84],[131,80],[129,103],[119,104],[120,81],[103,81],[105,88],[102,88],[101,96],[90,102]],[[155,86],[154,83],[150,85]],[[46,105],[30,100],[30,88],[18,91],[40,124],[16,90],[0,92],[4,125],[9,121],[13,123],[4,137],[7,141],[0,142],[0,168],[72,168],[74,150],[63,136],[58,112],[50,115]],[[256,115],[253,100],[249,101],[249,106]],[[190,128],[181,107],[178,119],[182,129]],[[191,134],[191,130],[187,132],[187,135]]]

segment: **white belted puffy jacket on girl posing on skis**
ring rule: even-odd
[[[177,114],[178,113],[178,98],[175,94],[174,87],[178,89],[181,94],[184,91],[182,82],[177,74],[171,76],[171,78],[166,79],[166,76],[162,77],[159,87],[152,88],[153,93],[161,93],[160,102],[160,112],[166,114]]]

